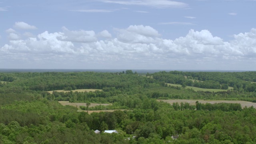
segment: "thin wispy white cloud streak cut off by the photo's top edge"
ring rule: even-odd
[[[124,5],[139,5],[150,6],[154,8],[184,8],[188,7],[188,4],[183,2],[176,2],[170,0],[101,0],[105,3],[124,4]]]

